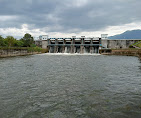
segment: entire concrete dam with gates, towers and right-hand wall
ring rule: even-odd
[[[141,39],[108,39],[107,36],[99,37],[76,37],[71,38],[48,38],[42,35],[35,44],[49,53],[99,53],[100,49],[127,49],[130,45]]]

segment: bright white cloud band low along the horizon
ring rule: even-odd
[[[87,37],[100,37],[101,34],[109,34],[109,36],[115,35],[115,34],[120,34],[123,33],[126,30],[135,30],[135,29],[140,29],[141,22],[137,23],[129,23],[125,25],[119,25],[119,26],[109,26],[105,29],[102,29],[101,31],[82,31],[78,32],[79,29],[72,29],[73,32],[77,33],[62,33],[62,32],[49,32],[49,28],[46,27],[43,30],[40,30],[39,28],[33,28],[30,29],[30,27],[27,24],[23,24],[21,28],[0,28],[0,32],[3,34],[3,36],[8,36],[12,35],[17,38],[21,38],[24,36],[25,33],[30,33],[34,37],[38,37],[39,35],[49,35],[49,37],[72,37],[72,36],[87,36]],[[45,32],[47,31],[48,32]]]

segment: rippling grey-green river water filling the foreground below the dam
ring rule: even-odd
[[[141,61],[93,54],[1,58],[0,118],[141,118]]]

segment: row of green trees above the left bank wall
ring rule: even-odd
[[[35,47],[35,44],[33,37],[29,33],[26,33],[20,40],[13,36],[3,38],[0,35],[0,47]]]

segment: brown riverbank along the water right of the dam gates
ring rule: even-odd
[[[101,49],[100,54],[103,55],[123,55],[123,56],[137,56],[141,59],[141,49]]]

